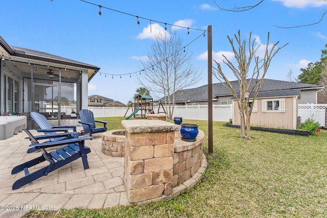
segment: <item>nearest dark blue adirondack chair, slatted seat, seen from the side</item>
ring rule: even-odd
[[[66,140],[59,140],[59,141],[46,141],[40,143],[28,130],[25,129],[26,134],[30,137],[32,144],[30,147],[35,147],[37,149],[41,149],[43,154],[40,157],[34,158],[33,160],[27,161],[22,163],[18,166],[15,166],[11,174],[17,174],[21,171],[25,172],[25,177],[22,177],[14,182],[12,185],[12,189],[15,190],[20,188],[42,176],[46,176],[49,173],[55,171],[56,169],[60,168],[61,166],[66,165],[78,158],[82,158],[84,169],[88,168],[87,162],[87,155],[91,152],[91,150],[84,146],[84,141],[87,139],[91,139],[91,137],[81,137],[81,138],[73,138],[71,133],[59,133],[53,135],[44,135],[43,138],[46,137],[63,137],[71,135],[71,138]],[[50,153],[46,152],[46,148],[53,148],[56,146],[64,146],[62,148],[57,149],[56,151],[52,151]],[[30,173],[29,169],[32,166],[35,166],[43,161],[49,161],[48,166],[44,166],[42,168],[37,168],[36,171]],[[33,167],[34,168],[34,167]]]

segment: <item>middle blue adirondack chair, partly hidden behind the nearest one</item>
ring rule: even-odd
[[[48,119],[45,118],[45,116],[43,116],[40,113],[37,112],[31,112],[31,118],[34,120],[34,122],[37,124],[37,126],[40,129],[35,129],[38,132],[43,132],[45,135],[54,135],[57,134],[57,132],[68,132],[69,130],[72,130],[73,136],[74,138],[77,138],[80,136],[79,132],[76,132],[76,125],[72,125],[72,126],[52,126]],[[35,138],[37,139],[41,139],[42,136],[35,136]],[[48,137],[49,138],[49,137]],[[66,139],[66,137],[54,137],[54,138],[49,138],[50,141],[58,141],[58,140],[63,140]],[[27,153],[32,153],[35,151],[39,151],[38,149],[36,149],[35,147],[30,148],[27,150]]]

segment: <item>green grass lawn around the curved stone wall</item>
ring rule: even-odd
[[[101,117],[109,129],[122,129],[123,117]],[[207,122],[195,123],[207,137]],[[327,132],[306,136],[251,131],[214,122],[214,153],[192,190],[168,202],[105,209],[32,211],[26,217],[326,217]]]

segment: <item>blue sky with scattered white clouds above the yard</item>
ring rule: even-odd
[[[293,27],[320,20],[327,10],[327,1],[321,0],[265,0],[258,7],[246,12],[218,10],[214,1],[97,1],[90,3],[122,11],[139,17],[176,24],[178,26],[206,30],[212,26],[213,58],[222,60],[225,54],[231,61],[231,46],[227,35],[238,30],[247,39],[250,32],[258,44],[264,47],[267,33],[270,43],[289,43],[273,58],[266,78],[287,80],[292,70],[295,76],[300,68],[320,59],[321,50],[327,44],[327,16],[314,26],[281,29],[275,26]],[[259,0],[216,0],[222,8],[231,9],[254,5]],[[79,0],[11,0],[2,1],[0,35],[9,45],[25,47],[100,67],[98,74],[89,82],[88,94],[99,94],[127,103],[136,88],[140,87],[133,72],[141,70],[154,33],[165,31],[165,25],[139,19]],[[169,26],[167,28],[170,28]],[[184,44],[193,41],[201,31],[177,29]],[[199,67],[203,79],[195,86],[207,84],[207,37],[199,37],[187,49],[193,63]],[[223,67],[233,80],[231,72]],[[124,74],[127,74],[124,76]],[[129,75],[131,74],[131,75]],[[113,79],[112,79],[112,76]],[[120,76],[123,75],[123,76]],[[122,78],[120,78],[122,77]],[[213,82],[219,82],[213,77]]]

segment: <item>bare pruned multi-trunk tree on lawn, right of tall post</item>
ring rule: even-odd
[[[238,35],[235,34],[234,36],[236,42],[234,42],[233,39],[229,36],[227,36],[227,38],[232,47],[238,66],[234,66],[232,62],[229,61],[224,55],[223,63],[229,67],[229,69],[233,72],[234,76],[239,81],[240,93],[237,93],[234,90],[227,77],[225,76],[223,70],[221,69],[220,63],[215,60],[214,61],[217,64],[217,68],[213,67],[215,69],[213,74],[220,82],[222,82],[222,84],[231,92],[233,97],[236,99],[241,118],[241,137],[251,139],[250,120],[254,100],[256,99],[256,95],[258,95],[272,58],[287,44],[283,45],[282,47],[276,47],[279,43],[278,41],[272,45],[271,49],[269,49],[270,45],[268,32],[265,55],[262,59],[260,59],[259,56],[255,55],[260,45],[256,47],[254,46],[255,39],[251,39],[251,33],[249,35],[248,45],[245,39],[241,41],[240,31],[238,31]],[[254,61],[254,63],[252,63],[252,61]],[[253,67],[253,70],[249,73],[250,67]],[[247,80],[249,74],[250,77],[249,80]],[[250,102],[252,102],[252,104]]]

